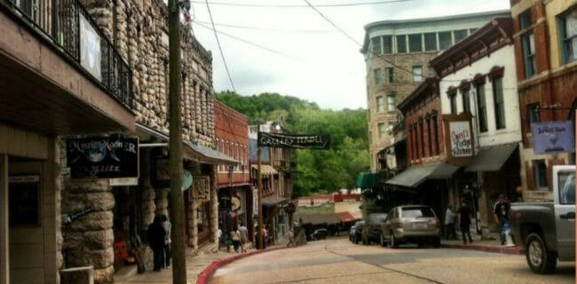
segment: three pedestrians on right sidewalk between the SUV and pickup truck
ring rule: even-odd
[[[506,230],[509,226],[509,208],[509,201],[507,201],[504,194],[500,194],[499,201],[494,204],[493,214],[496,224],[499,225],[498,230],[502,245],[505,244]],[[473,239],[470,237],[470,217],[471,210],[466,198],[461,199],[461,206],[456,211],[454,211],[453,205],[449,204],[445,212],[445,239],[457,240],[455,232],[455,222],[457,222],[462,233],[462,243],[467,244],[467,241],[472,243]]]

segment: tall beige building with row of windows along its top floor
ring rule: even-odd
[[[423,82],[424,77],[434,74],[429,60],[494,17],[509,13],[498,11],[430,19],[384,20],[365,26],[361,52],[367,65],[372,171],[390,170],[383,149],[395,143],[392,129],[402,121],[397,105]]]

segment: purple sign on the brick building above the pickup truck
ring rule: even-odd
[[[531,123],[534,154],[567,153],[575,151],[573,122]]]

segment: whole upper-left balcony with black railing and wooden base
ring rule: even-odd
[[[77,0],[0,0],[0,118],[46,133],[134,130],[132,71]]]

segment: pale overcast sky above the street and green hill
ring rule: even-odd
[[[327,4],[388,4],[322,7]],[[509,0],[209,0],[235,90],[245,96],[277,92],[335,110],[367,107],[364,26],[379,20],[438,17],[509,9]],[[215,91],[233,90],[204,0],[191,1],[193,32],[212,51]],[[249,5],[302,5],[257,7]],[[233,27],[236,26],[236,27]],[[222,33],[222,34],[221,34]],[[228,36],[226,36],[226,35]],[[233,37],[236,38],[233,38]],[[356,42],[356,43],[355,43]],[[260,46],[260,47],[259,47]]]

